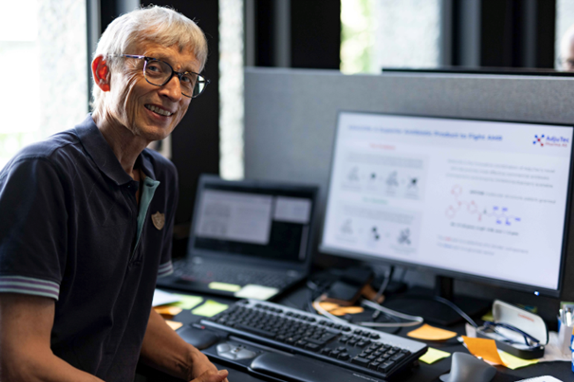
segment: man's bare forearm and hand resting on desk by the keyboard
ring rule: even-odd
[[[219,371],[205,354],[181,339],[152,309],[142,344],[141,358],[146,364],[186,381],[227,382],[227,371]]]

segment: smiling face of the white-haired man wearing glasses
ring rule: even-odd
[[[161,46],[144,42],[130,54],[166,61],[177,72],[199,72],[199,61],[177,45]],[[163,86],[148,83],[144,77],[144,60],[125,58],[124,70],[112,73],[108,110],[113,118],[133,135],[152,142],[167,137],[181,121],[191,98],[181,94],[177,75]]]

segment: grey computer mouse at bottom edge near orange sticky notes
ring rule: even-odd
[[[443,382],[490,382],[496,373],[497,369],[472,354],[456,352],[452,354],[451,372],[439,379]]]

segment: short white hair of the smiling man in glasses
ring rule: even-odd
[[[110,57],[130,52],[134,45],[146,41],[162,46],[177,44],[180,50],[189,49],[200,63],[200,72],[207,61],[207,40],[199,26],[176,10],[157,5],[136,9],[112,21],[102,33],[94,57],[104,56],[110,69],[118,70],[122,60],[110,60]],[[100,111],[103,97],[104,92],[94,86],[94,111]]]

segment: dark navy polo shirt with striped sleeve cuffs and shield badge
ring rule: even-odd
[[[88,115],[0,172],[0,293],[56,300],[52,351],[106,381],[133,380],[158,276],[169,274],[177,173],[144,150],[139,183]]]

